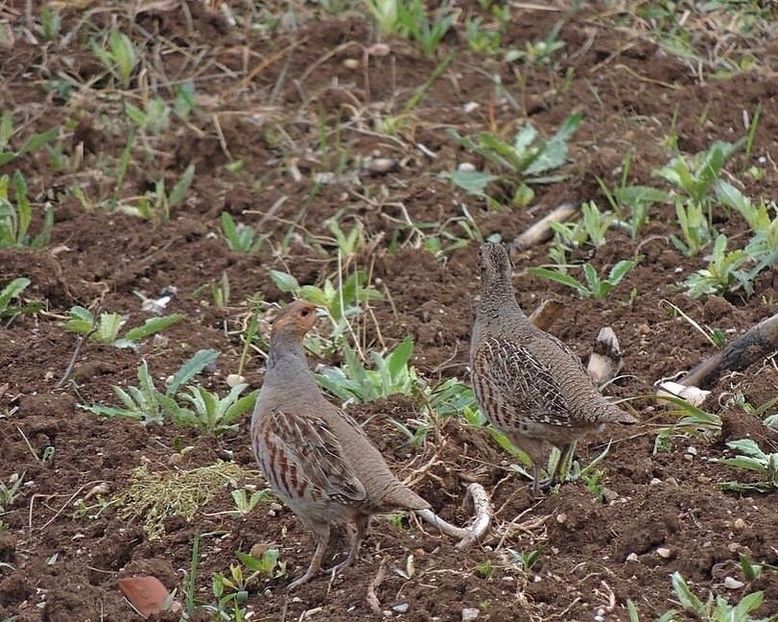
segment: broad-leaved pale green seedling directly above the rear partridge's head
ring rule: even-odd
[[[578,129],[582,118],[581,113],[571,114],[548,140],[540,139],[537,129],[531,123],[519,130],[510,143],[491,132],[481,132],[468,138],[451,130],[449,136],[489,162],[494,173],[454,171],[449,174],[449,178],[466,192],[482,196],[491,182],[500,179],[511,188],[514,205],[527,205],[534,197],[528,184],[552,183],[564,179],[564,176],[548,173],[567,162],[567,141]]]

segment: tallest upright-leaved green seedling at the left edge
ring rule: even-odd
[[[0,164],[2,166],[2,164]],[[13,201],[9,197],[9,181],[13,189]],[[32,247],[40,248],[49,243],[54,226],[54,212],[51,207],[43,210],[43,223],[40,232],[30,236],[32,223],[32,205],[27,198],[27,182],[16,171],[13,178],[0,177],[0,248]]]

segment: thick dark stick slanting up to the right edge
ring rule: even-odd
[[[706,387],[726,371],[740,371],[778,351],[778,313],[752,326],[742,337],[697,365],[679,382]]]

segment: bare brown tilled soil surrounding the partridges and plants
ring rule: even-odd
[[[367,71],[354,70],[344,61],[362,62],[361,46],[375,41],[371,27],[359,18],[330,17],[321,23],[303,19],[296,32],[282,28],[267,37],[231,28],[201,3],[187,4],[191,18],[177,9],[139,14],[133,35],[136,41],[149,38],[149,53],[153,37],[177,50],[158,56],[155,62],[160,66],[149,67],[148,79],[160,83],[166,99],[173,93],[165,90],[162,69],[171,81],[195,70],[201,76],[199,110],[187,124],[171,121],[175,135],[171,131],[155,144],[154,154],[148,156],[153,162],[138,156],[128,172],[125,190],[132,196],[153,186],[159,175],[170,187],[190,162],[197,165],[186,204],[174,209],[169,222],[156,226],[101,208],[86,210],[65,192],[77,185],[92,198],[106,196],[113,180],[106,178],[110,173],[98,170],[105,161],[101,158],[119,157],[125,145],[125,136],[117,133],[109,114],[112,105],[114,114],[121,111],[119,93],[103,86],[104,71],[88,47],[78,37],[55,45],[19,36],[12,49],[3,50],[0,108],[16,110],[17,123],[28,124],[25,131],[60,124],[66,150],[72,145],[75,152],[82,143],[84,160],[77,170],[56,172],[42,151],[3,170],[12,172],[15,167],[25,174],[36,205],[51,202],[55,226],[45,249],[0,251],[0,284],[26,276],[32,281],[27,294],[44,304],[35,317],[16,318],[0,330],[0,479],[7,481],[17,473],[25,482],[1,517],[7,528],[0,529],[0,619],[138,619],[118,590],[118,578],[153,574],[170,589],[180,590],[195,533],[208,534],[197,582],[197,600],[203,603],[213,600],[212,573],[227,572],[235,551],[248,551],[256,543],[281,548],[288,576],[252,587],[253,620],[382,619],[366,601],[381,560],[387,567],[377,590],[381,608],[405,620],[460,620],[466,607],[479,608],[479,620],[593,616],[626,620],[628,599],[640,609],[641,619],[652,619],[678,607],[670,587],[675,571],[703,597],[713,591],[737,599],[763,590],[760,616],[777,614],[776,573],[766,572],[739,590],[724,587],[727,576],[744,580],[737,565],[741,555],[778,564],[776,496],[723,492],[718,483],[737,473],[712,459],[724,455],[728,440],[753,436],[765,450],[775,451],[778,439],[752,415],[719,406],[714,399],[705,407],[722,411],[719,437],[674,437],[671,451],[658,454],[652,451],[651,426],[663,420],[662,408],[648,398],[635,402],[644,425],[630,430],[635,432],[630,436],[614,432],[617,442],[602,465],[607,503],[595,500],[580,482],[534,502],[526,481],[509,468],[508,456],[483,430],[459,420],[442,422],[424,448],[405,444],[390,421],[416,416],[417,406],[405,398],[352,407],[351,414],[368,421],[368,433],[400,476],[412,475],[435,458],[416,479],[415,489],[443,516],[460,523],[467,520],[470,509],[461,501],[463,484],[482,483],[497,510],[495,530],[480,546],[463,552],[445,537],[423,531],[413,519],[403,528],[381,519],[373,523],[357,564],[331,584],[320,577],[291,595],[283,588],[305,568],[312,546],[301,522],[285,508],[269,511],[260,504],[249,517],[232,518],[219,513],[233,507],[225,489],[192,521],[169,520],[164,537],[155,541],[112,508],[101,513],[95,508],[86,515],[77,512],[77,501],[94,486],[105,482],[112,493],[121,491],[141,464],[165,471],[231,457],[244,468],[254,468],[248,421],[242,422],[237,435],[212,438],[173,426],[143,428],[132,421],[98,418],[77,404],[113,403],[111,387],[134,384],[141,357],[161,381],[201,348],[222,351],[206,384],[224,392],[225,376],[237,368],[242,348],[238,331],[248,313],[243,301],[254,295],[268,303],[287,299],[271,282],[268,269],[287,270],[304,284],[316,283],[336,269],[335,253],[326,241],[319,250],[306,242],[309,235],[327,235],[322,223],[328,217],[338,214],[344,223],[362,221],[368,239],[384,236],[373,252],[356,259],[358,265],[372,269],[374,282],[388,294],[372,305],[375,321],[365,327],[366,343],[392,345],[410,333],[421,375],[430,381],[452,375],[464,378],[477,292],[475,244],[450,253],[445,261],[436,260],[399,224],[403,214],[398,205],[404,205],[416,222],[443,222],[460,215],[460,203],[466,202],[484,236],[499,233],[510,240],[539,213],[564,201],[594,199],[604,206],[595,176],[618,183],[618,167],[627,150],[634,151],[637,182],[651,183],[652,169],[668,159],[661,141],[676,110],[679,147],[694,152],[715,139],[742,135],[743,112],[751,113],[761,104],[753,154],[778,155],[774,78],[745,73],[700,83],[694,71],[660,48],[639,38],[625,46],[622,32],[591,16],[576,17],[563,28],[570,57],[562,69],[530,67],[521,86],[510,66],[495,64],[483,71],[483,59],[464,51],[466,45],[452,38],[448,45],[459,46],[462,53],[424,95],[410,124],[394,141],[374,131],[375,120],[396,114],[437,60],[425,59],[405,42],[392,41],[390,55],[371,57]],[[11,5],[16,8],[4,9],[6,17],[21,30],[24,3]],[[82,17],[65,13],[63,32]],[[95,32],[110,22],[101,11],[87,19]],[[523,48],[524,42],[545,36],[556,19],[553,13],[516,10],[510,44]],[[292,43],[294,47],[288,48]],[[207,67],[193,61],[201,51]],[[265,67],[252,72],[243,84],[246,59],[249,72],[263,62]],[[74,88],[64,103],[44,90],[41,65],[50,76],[94,81],[92,89]],[[573,79],[559,94],[566,67],[574,68]],[[37,68],[35,79],[28,76],[30,68]],[[501,75],[517,102],[515,108],[507,100],[495,101],[492,72]],[[102,98],[97,103],[92,101],[96,96]],[[479,107],[466,113],[468,102]],[[560,184],[537,187],[539,209],[487,211],[438,177],[469,158],[447,137],[449,127],[461,133],[483,129],[493,111],[496,126],[506,134],[529,117],[548,135],[574,110],[585,111],[585,122],[570,145],[574,163],[570,176]],[[314,174],[337,170],[340,157],[332,150],[321,154],[320,118],[328,128],[338,120],[343,124],[340,140],[347,171],[359,170],[360,161],[375,155],[397,159],[399,168],[385,175],[360,174],[359,186],[314,186]],[[334,144],[334,135],[329,142]],[[437,158],[413,148],[417,143]],[[243,160],[242,172],[223,169],[231,159]],[[301,181],[294,179],[293,167]],[[766,175],[748,187],[749,196],[778,192],[778,172],[765,170]],[[225,210],[261,227],[269,234],[269,243],[251,255],[230,252],[218,225]],[[672,207],[665,206],[654,209],[637,241],[610,232],[607,245],[589,258],[598,269],[636,253],[643,259],[604,301],[577,299],[561,286],[526,272],[527,266],[547,261],[546,245],[516,258],[514,284],[520,302],[533,309],[549,297],[564,301],[572,310],[555,323],[553,332],[582,357],[591,351],[603,325],[613,327],[624,351],[626,374],[609,389],[618,397],[648,396],[659,378],[688,369],[712,351],[708,341],[674,317],[662,301],[673,302],[730,335],[775,312],[775,270],[760,277],[755,294],[747,300],[733,296],[692,301],[680,293],[675,284],[704,262],[684,258],[668,243],[673,221]],[[730,236],[747,236],[745,223],[738,219],[720,226]],[[278,248],[285,237],[290,246],[282,257]],[[212,303],[209,284],[225,272],[232,303],[220,309]],[[87,344],[72,382],[56,388],[77,343],[62,326],[71,306],[99,301],[102,309],[129,314],[131,325],[137,325],[146,316],[134,292],[155,296],[169,286],[177,288],[177,294],[166,311],[183,313],[186,320],[165,332],[167,342],[149,340],[139,353]],[[630,302],[633,288],[637,295]],[[252,387],[261,385],[262,365],[259,356],[248,365],[246,377]],[[710,388],[714,397],[724,396],[722,404],[727,395],[739,393],[758,405],[778,392],[778,373],[774,362],[760,363]],[[588,462],[605,442],[607,437],[602,436],[582,443],[578,459]],[[174,447],[190,445],[194,449],[172,465]],[[47,447],[55,449],[49,462],[41,460]],[[252,481],[263,486],[259,474]],[[340,554],[344,547],[339,542],[333,552]],[[665,549],[665,556],[658,549]],[[540,550],[540,558],[527,572],[513,553],[531,550]],[[408,578],[404,575],[411,555],[415,571]],[[490,572],[484,570],[487,566]],[[392,610],[402,604],[408,605],[406,613]]]

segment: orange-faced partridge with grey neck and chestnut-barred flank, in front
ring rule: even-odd
[[[252,447],[265,478],[316,542],[308,570],[289,589],[319,571],[332,527],[351,532],[348,557],[328,571],[337,573],[356,559],[372,515],[430,507],[392,474],[362,427],[319,391],[302,345],[315,323],[316,308],[302,301],[276,318],[251,419]]]

